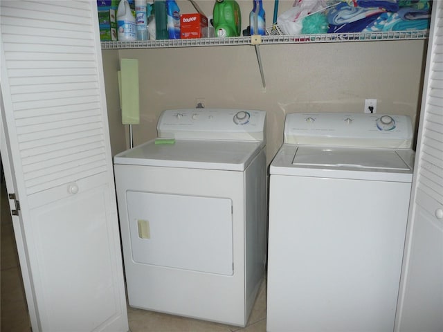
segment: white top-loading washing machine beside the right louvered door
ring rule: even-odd
[[[266,331],[392,332],[410,118],[292,113],[270,166]]]

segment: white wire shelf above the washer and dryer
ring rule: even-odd
[[[374,33],[325,33],[321,35],[266,35],[262,36],[262,45],[305,44],[328,42],[370,42],[383,40],[411,40],[428,38],[428,30],[388,31]],[[174,48],[197,46],[235,46],[251,45],[251,37],[164,39],[136,42],[101,42],[102,49],[124,48]]]

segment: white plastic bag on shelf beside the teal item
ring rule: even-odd
[[[326,0],[296,0],[292,7],[277,17],[277,24],[284,35],[300,35],[302,18],[327,8]]]

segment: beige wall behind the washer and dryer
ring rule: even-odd
[[[213,3],[199,1],[208,2]],[[273,6],[268,17],[272,12]],[[266,111],[270,163],[282,143],[287,113],[363,113],[365,98],[375,98],[378,113],[406,114],[415,123],[425,46],[425,40],[262,45],[266,88],[249,45],[103,50],[112,151],[129,146],[119,122],[120,58],[139,60],[141,124],[134,125],[134,145],[156,137],[161,111],[192,108],[196,98],[204,98],[210,108]]]

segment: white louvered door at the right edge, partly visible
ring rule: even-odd
[[[443,331],[443,1],[433,1],[397,332]]]

